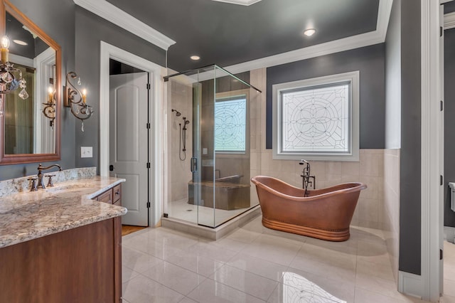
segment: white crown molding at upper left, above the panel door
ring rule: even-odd
[[[106,0],[73,0],[78,6],[91,11],[93,14],[104,18],[105,20],[114,23],[121,28],[134,33],[139,38],[149,41],[150,43],[168,50],[169,46],[176,43],[171,38],[164,36],[156,29],[139,21],[125,11],[122,11],[117,6],[110,4]]]

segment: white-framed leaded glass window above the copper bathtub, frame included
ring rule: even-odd
[[[358,161],[359,78],[353,71],[272,85],[273,159]]]

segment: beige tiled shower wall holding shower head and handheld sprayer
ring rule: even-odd
[[[190,159],[193,154],[193,88],[191,85],[179,83],[177,80],[169,80],[170,89],[168,86],[168,144],[170,147],[169,154],[169,168],[171,169],[168,174],[168,181],[171,191],[169,191],[170,201],[177,201],[183,198],[188,198],[188,181],[191,180]],[[172,109],[181,112],[181,116],[176,117]],[[190,120],[190,124],[186,126],[186,159],[181,161],[178,156],[182,146],[179,147],[180,127],[183,117]],[[181,156],[183,153],[181,152]]]

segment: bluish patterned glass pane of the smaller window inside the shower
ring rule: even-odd
[[[215,151],[245,152],[246,96],[215,102]]]

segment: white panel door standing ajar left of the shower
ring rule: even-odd
[[[147,73],[111,75],[109,82],[109,161],[111,176],[124,178],[122,224],[148,226]]]

